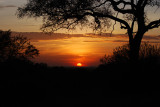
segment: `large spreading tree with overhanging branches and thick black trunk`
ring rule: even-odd
[[[43,17],[43,31],[89,26],[95,30],[110,27],[110,20],[127,31],[130,59],[139,58],[144,34],[160,26],[160,19],[150,21],[147,7],[160,7],[159,0],[28,0],[18,8],[18,17]]]

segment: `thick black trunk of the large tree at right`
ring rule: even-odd
[[[129,37],[132,35],[132,38],[129,39],[129,46],[130,46],[129,57],[130,57],[131,63],[133,64],[138,63],[141,41],[142,41],[143,35],[146,32],[144,15],[145,15],[144,8],[138,8],[138,12],[135,14],[135,16],[137,17],[137,24],[138,24],[137,33],[133,37],[133,29],[132,31],[128,32]]]

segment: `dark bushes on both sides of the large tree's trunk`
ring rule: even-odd
[[[113,50],[112,55],[105,55],[100,59],[102,65],[107,64],[127,64],[130,63],[129,45],[123,45]],[[141,64],[159,64],[160,46],[145,42],[141,45],[139,51],[139,63]]]

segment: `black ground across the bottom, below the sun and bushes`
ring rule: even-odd
[[[158,107],[159,65],[98,68],[6,63],[0,72],[1,107]]]

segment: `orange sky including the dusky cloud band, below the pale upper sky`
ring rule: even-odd
[[[13,33],[18,35],[19,33]],[[49,66],[98,66],[100,58],[112,54],[114,48],[128,43],[126,35],[20,33],[40,50],[33,61]],[[159,36],[145,36],[145,41],[160,43]]]

